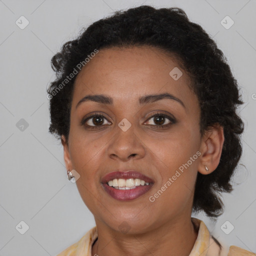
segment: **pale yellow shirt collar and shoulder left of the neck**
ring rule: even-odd
[[[96,226],[94,226],[87,231],[79,241],[61,251],[57,256],[91,256],[91,244],[96,237],[97,229]]]

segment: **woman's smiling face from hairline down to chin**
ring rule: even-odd
[[[80,175],[77,188],[97,225],[141,232],[190,217],[201,136],[200,108],[188,84],[174,59],[146,46],[100,49],[77,75],[64,158]],[[161,93],[172,98],[140,99]],[[95,94],[112,103],[97,97],[77,105]],[[136,192],[101,183],[117,170],[135,170],[153,183]]]

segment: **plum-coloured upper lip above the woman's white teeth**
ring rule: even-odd
[[[112,180],[114,178],[139,178],[144,180],[145,182],[148,183],[153,183],[154,181],[149,178],[148,176],[145,176],[144,174],[135,171],[135,170],[116,170],[116,171],[112,171],[109,172],[107,174],[105,174],[102,179],[101,179],[101,183],[107,183],[109,180]]]

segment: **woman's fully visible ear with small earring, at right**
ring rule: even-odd
[[[222,152],[223,142],[223,127],[219,124],[209,127],[209,129],[204,132],[201,139],[201,155],[198,164],[198,171],[201,174],[209,174],[217,168]],[[208,170],[206,170],[205,165]]]

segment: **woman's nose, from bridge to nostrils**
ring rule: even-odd
[[[107,154],[110,158],[128,161],[131,158],[144,157],[144,143],[141,137],[134,133],[133,125],[126,131],[117,126],[115,132],[107,146]]]

